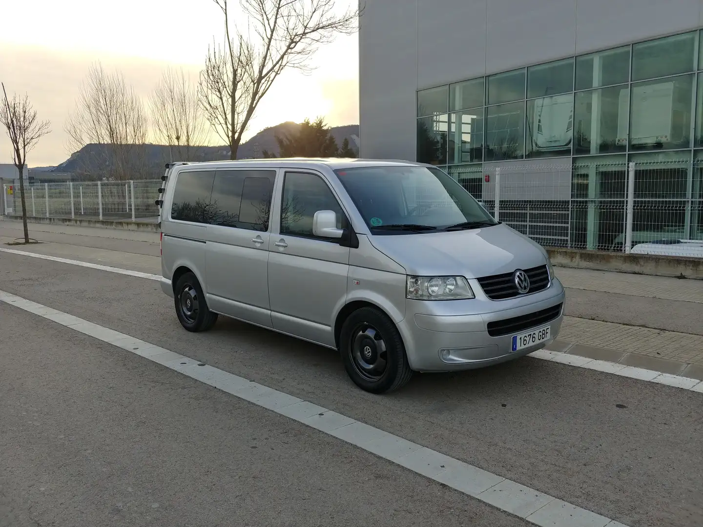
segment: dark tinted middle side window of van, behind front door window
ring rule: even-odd
[[[209,223],[248,230],[269,229],[274,170],[217,171]]]

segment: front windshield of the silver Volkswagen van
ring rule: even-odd
[[[355,167],[335,174],[373,234],[498,225],[459,183],[429,167]]]

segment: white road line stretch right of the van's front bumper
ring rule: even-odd
[[[612,373],[621,377],[630,377],[640,381],[656,382],[657,384],[666,384],[675,388],[684,390],[697,391],[703,393],[703,381],[699,379],[691,379],[690,377],[681,377],[681,375],[671,375],[669,373],[657,372],[654,370],[645,370],[641,367],[626,366],[624,364],[610,363],[607,360],[596,360],[579,355],[571,355],[570,353],[562,353],[560,351],[548,351],[541,349],[533,351],[529,357],[539,358],[542,360],[550,360],[553,363],[568,364],[576,367],[583,367],[586,370],[596,370],[599,372]]]

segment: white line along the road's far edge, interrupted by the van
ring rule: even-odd
[[[122,269],[119,267],[101,266],[97,263],[89,263],[81,260],[70,260],[66,258],[59,258],[58,256],[37,254],[35,252],[3,249],[2,247],[0,247],[0,252],[19,254],[20,256],[32,256],[32,258],[58,261],[60,263],[70,263],[73,266],[89,267],[92,269],[98,269],[99,271],[109,271],[110,273],[119,273],[120,275],[136,276],[137,278],[148,278],[148,280],[161,280],[162,278],[160,275],[140,273],[139,271],[130,271],[129,269]],[[690,377],[670,375],[668,373],[657,372],[654,370],[644,370],[640,367],[610,363],[606,360],[595,360],[588,357],[581,357],[579,355],[572,355],[571,353],[561,353],[559,351],[540,350],[530,353],[529,356],[543,360],[550,360],[555,363],[583,367],[586,368],[586,370],[598,370],[599,372],[612,373],[614,375],[620,375],[621,377],[631,377],[633,379],[639,379],[640,381],[657,382],[658,384],[667,384],[669,386],[676,386],[677,388],[703,393],[703,381],[691,379]]]

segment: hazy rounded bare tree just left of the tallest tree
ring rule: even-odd
[[[169,146],[169,161],[192,161],[206,142],[208,124],[191,78],[182,69],[167,68],[149,108],[158,141]]]

